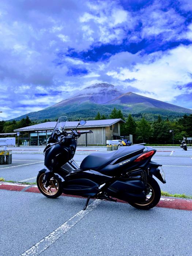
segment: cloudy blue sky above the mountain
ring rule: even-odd
[[[192,108],[191,0],[2,0],[0,38],[0,120],[100,82]]]

